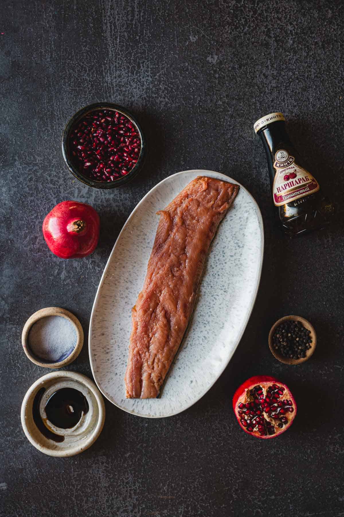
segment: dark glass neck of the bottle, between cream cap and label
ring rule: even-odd
[[[258,135],[264,145],[266,157],[268,160],[270,181],[272,185],[276,173],[273,167],[275,161],[275,153],[279,149],[285,149],[288,151],[289,154],[295,156],[297,151],[294,149],[289,139],[288,133],[285,128],[284,120],[278,120],[260,129],[258,131]]]

